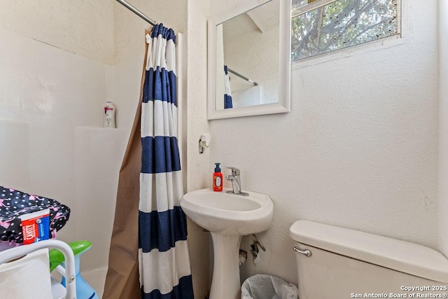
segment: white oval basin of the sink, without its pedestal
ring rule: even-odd
[[[272,225],[274,204],[268,195],[248,192],[248,196],[195,190],[183,196],[181,207],[195,223],[219,235],[251,235]]]

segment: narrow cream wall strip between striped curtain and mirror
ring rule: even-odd
[[[188,1],[188,81],[187,89],[187,190],[211,186],[210,150],[198,153],[198,141],[203,132],[209,132],[207,123],[207,1]],[[211,144],[214,139],[212,137]],[[211,284],[209,271],[209,233],[195,223],[188,222],[190,260],[195,298],[202,299]]]

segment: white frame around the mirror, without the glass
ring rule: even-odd
[[[269,0],[271,1],[271,0]],[[279,102],[241,108],[216,110],[216,25],[257,8],[268,1],[244,0],[235,7],[209,19],[208,22],[208,75],[207,120],[259,116],[290,112],[290,28],[291,0],[279,0]]]

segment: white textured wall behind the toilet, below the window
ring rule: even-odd
[[[274,200],[274,224],[258,235],[267,252],[241,279],[297,283],[297,219],[437,248],[437,4],[403,2],[404,43],[295,63],[290,113],[210,122],[211,162],[239,167],[244,189]]]

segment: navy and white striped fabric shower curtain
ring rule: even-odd
[[[141,105],[139,274],[141,298],[193,298],[177,141],[176,36],[155,25]]]

